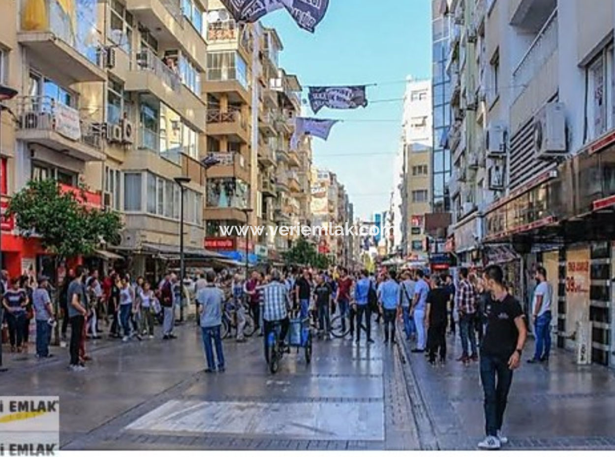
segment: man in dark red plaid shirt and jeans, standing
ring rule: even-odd
[[[461,336],[461,347],[463,354],[458,362],[467,363],[470,360],[477,361],[478,353],[476,350],[476,334],[474,333],[474,322],[476,316],[476,293],[474,286],[468,281],[467,268],[459,268],[459,285],[455,292],[455,307],[459,313],[459,327]],[[472,348],[472,355],[468,356],[468,341]]]

